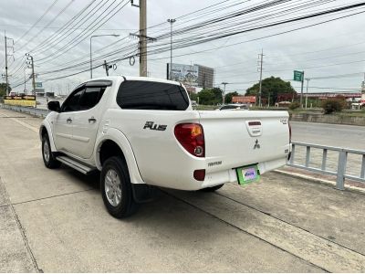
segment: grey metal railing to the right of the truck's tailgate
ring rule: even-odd
[[[296,160],[296,148],[298,146],[306,147],[306,161],[303,164],[294,163]],[[312,148],[322,150],[322,163],[320,168],[312,167],[309,165],[310,163],[310,151]],[[327,159],[328,159],[328,152],[337,152],[339,153],[339,160],[337,163],[337,172],[330,171],[327,169]],[[348,163],[348,155],[351,154],[358,154],[362,155],[361,160],[361,171],[360,176],[355,176],[352,174],[347,174],[347,163]],[[336,188],[339,190],[345,189],[345,179],[350,179],[353,181],[357,181],[360,183],[365,183],[365,151],[347,149],[347,148],[339,148],[333,146],[324,146],[312,143],[304,143],[304,142],[292,142],[292,152],[288,166],[297,167],[301,169],[305,169],[311,172],[316,172],[320,174],[329,174],[337,176],[336,180]]]

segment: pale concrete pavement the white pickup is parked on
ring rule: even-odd
[[[365,195],[269,173],[117,220],[98,175],[44,167],[39,122],[0,110],[0,271],[365,271]]]

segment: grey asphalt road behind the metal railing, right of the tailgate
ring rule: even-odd
[[[292,140],[365,151],[365,127],[290,121]]]

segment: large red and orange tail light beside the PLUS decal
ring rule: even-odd
[[[205,157],[203,127],[199,123],[180,123],[175,126],[175,137],[183,148],[196,157]]]

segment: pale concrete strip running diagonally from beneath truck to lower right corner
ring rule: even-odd
[[[286,250],[329,272],[364,272],[365,257],[223,195],[168,191],[227,224]]]

